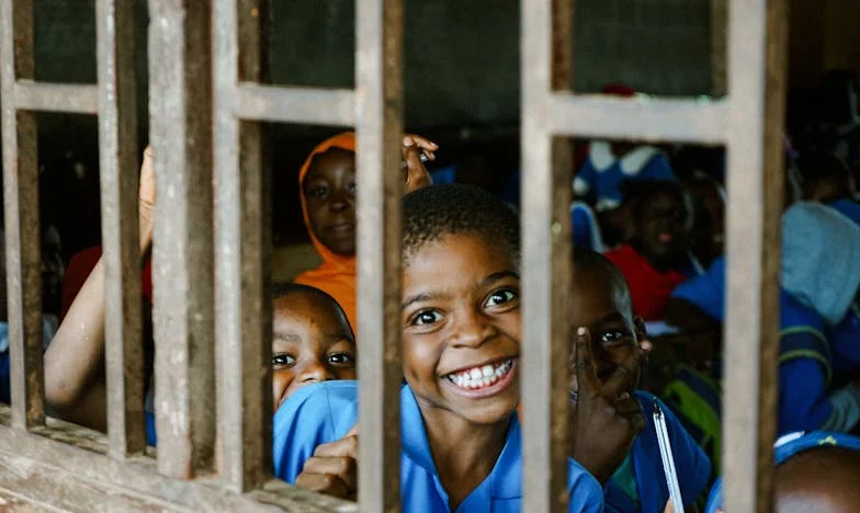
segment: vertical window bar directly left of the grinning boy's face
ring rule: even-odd
[[[357,0],[362,511],[400,510],[403,0]]]

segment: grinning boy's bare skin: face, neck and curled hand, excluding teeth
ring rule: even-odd
[[[419,248],[404,269],[404,375],[425,420],[433,461],[455,510],[501,454],[519,402],[519,269],[480,237],[444,236]],[[485,395],[449,376],[513,362]],[[320,445],[296,485],[354,497],[357,431]]]

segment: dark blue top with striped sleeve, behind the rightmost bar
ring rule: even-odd
[[[725,259],[701,276],[682,283],[672,297],[684,299],[714,319],[725,319]],[[828,399],[834,374],[860,368],[860,315],[857,308],[835,327],[780,289],[780,434],[848,430]]]

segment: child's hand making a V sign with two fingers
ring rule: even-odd
[[[568,430],[570,456],[601,483],[606,483],[624,461],[633,441],[645,428],[640,403],[627,390],[650,351],[643,342],[619,365],[606,383],[597,377],[591,357],[591,335],[579,328],[576,340],[578,394],[570,404]]]

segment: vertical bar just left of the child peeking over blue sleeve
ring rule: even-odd
[[[219,465],[236,492],[260,486],[271,472],[269,173],[259,123],[235,113],[237,81],[261,75],[261,3],[218,0],[213,16]]]

